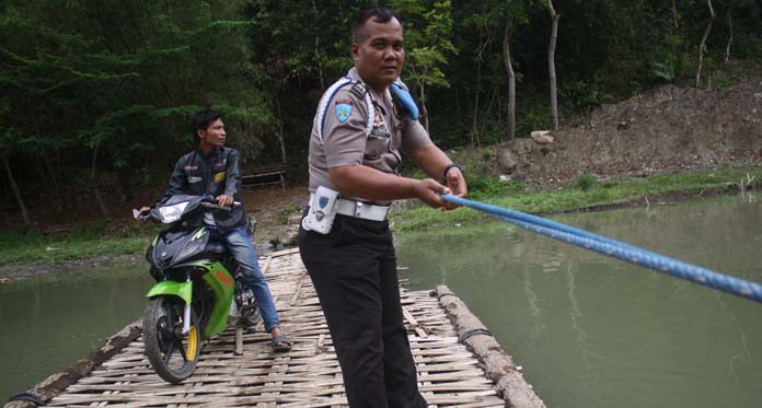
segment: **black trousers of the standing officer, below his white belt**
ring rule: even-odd
[[[299,230],[350,407],[426,407],[400,304],[386,221],[337,214],[331,233]]]

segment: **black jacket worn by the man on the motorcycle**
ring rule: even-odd
[[[227,195],[235,201],[241,201],[241,174],[239,168],[239,152],[228,147],[219,147],[204,156],[204,152],[195,150],[180,158],[170,177],[170,189],[159,202],[178,194],[213,197]],[[246,224],[243,205],[232,210],[215,210],[215,223],[220,234]],[[190,226],[200,226],[203,217],[190,222]]]

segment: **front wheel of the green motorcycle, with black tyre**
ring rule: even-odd
[[[190,310],[190,331],[183,334],[185,303],[160,295],[148,301],[143,315],[143,345],[151,366],[164,381],[178,384],[193,374],[201,352],[198,316]]]

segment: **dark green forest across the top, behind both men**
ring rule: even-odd
[[[403,79],[437,143],[505,137],[508,16],[516,136],[551,125],[546,0],[5,0],[0,155],[32,205],[72,201],[99,183],[125,196],[139,182],[162,188],[193,147],[189,115],[212,106],[245,163],[281,160],[282,142],[290,177],[299,178],[318,100],[353,63],[349,21],[377,3],[401,16]],[[563,16],[555,49],[562,118],[661,82],[694,83],[706,0],[553,4]],[[715,8],[702,86],[725,68],[727,49],[731,60],[762,55],[762,3]],[[21,200],[9,179],[0,177],[0,189],[13,206]]]

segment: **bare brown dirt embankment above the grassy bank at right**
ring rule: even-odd
[[[554,184],[585,173],[647,175],[759,163],[762,80],[719,90],[660,86],[603,105],[551,136],[552,142],[519,138],[497,147],[493,175]]]

